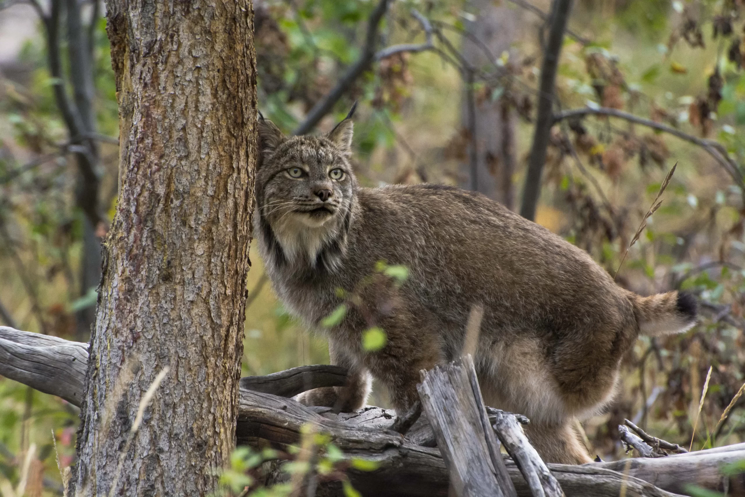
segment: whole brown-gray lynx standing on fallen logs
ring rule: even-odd
[[[460,356],[480,305],[474,361],[486,405],[530,418],[527,435],[546,461],[589,462],[574,420],[612,399],[621,357],[639,334],[694,325],[694,297],[624,290],[583,250],[472,191],[362,188],[349,162],[351,118],[323,136],[291,137],[259,119],[261,257],[282,303],[322,330],[332,363],[349,370],[345,387],[297,399],[352,411],[366,402],[372,375],[396,409],[407,409],[420,370]],[[408,279],[363,285],[379,261],[405,266]],[[323,329],[343,303],[339,289],[357,291],[358,306]],[[361,345],[370,313],[387,335],[375,352]]]

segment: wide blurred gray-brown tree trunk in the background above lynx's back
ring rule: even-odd
[[[496,2],[498,3],[498,2]],[[469,37],[463,38],[463,57],[472,67],[480,68],[493,64],[492,57],[500,57],[505,50],[510,50],[510,43],[516,39],[520,22],[520,11],[496,5],[491,0],[469,1],[470,10],[475,14],[474,22],[466,22],[469,37],[475,37],[489,49],[478,46]],[[489,95],[487,95],[489,96]],[[472,164],[461,164],[461,176],[467,180],[464,188],[475,189],[487,197],[504,203],[512,209],[515,203],[513,174],[515,173],[515,111],[504,98],[478,99],[475,102],[475,146],[476,175]],[[463,102],[461,112],[463,128],[470,129],[468,102]],[[475,187],[475,188],[474,188]]]

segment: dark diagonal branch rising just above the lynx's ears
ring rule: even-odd
[[[325,97],[321,98],[305,116],[305,121],[299,124],[295,128],[293,134],[304,135],[308,133],[313,127],[318,124],[318,121],[323,118],[324,115],[329,113],[334,107],[334,104],[339,101],[341,96],[352,86],[352,83],[367,70],[373,60],[375,59],[375,43],[378,41],[378,25],[380,20],[383,18],[385,11],[388,8],[390,0],[380,0],[378,6],[375,7],[373,13],[370,14],[370,19],[367,21],[367,35],[365,37],[365,44],[362,48],[362,53],[357,62],[347,69],[346,73],[336,83],[334,88],[326,94]]]

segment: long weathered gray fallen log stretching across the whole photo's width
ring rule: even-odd
[[[0,326],[0,374],[62,396],[73,405],[78,405],[82,397],[87,359],[86,344]],[[314,367],[304,371],[312,370]],[[416,440],[422,440],[431,434],[425,416],[404,437],[390,429],[396,421],[393,411],[371,407],[337,415],[323,409],[306,408],[292,399],[241,388],[238,443],[296,444],[302,425],[316,422],[319,430],[328,432],[346,454],[378,461],[378,469],[373,472],[349,470],[352,484],[364,495],[448,495],[448,473],[440,451],[413,442],[415,435]],[[720,492],[725,486],[745,488],[742,475],[726,480],[720,472],[724,464],[743,459],[745,444],[738,444],[665,458],[582,466],[548,464],[548,469],[568,497],[618,497],[622,488],[627,497],[673,497],[685,493],[687,484]],[[517,495],[530,496],[530,488],[510,460],[507,471]]]

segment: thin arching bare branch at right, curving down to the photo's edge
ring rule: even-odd
[[[732,176],[732,178],[735,180],[736,183],[738,183],[738,186],[740,186],[741,189],[745,189],[745,183],[743,181],[743,176],[740,172],[738,164],[729,158],[729,153],[727,153],[726,149],[719,142],[714,142],[714,140],[702,139],[697,136],[684,133],[681,130],[676,130],[674,127],[670,127],[667,124],[662,124],[650,119],[641,118],[638,117],[638,115],[624,113],[624,111],[622,110],[608,109],[606,107],[600,107],[599,109],[591,109],[589,107],[586,107],[583,109],[565,110],[563,112],[554,114],[554,123],[562,121],[563,119],[581,117],[583,115],[609,115],[611,117],[625,119],[626,121],[631,121],[636,124],[641,124],[642,126],[650,127],[654,130],[659,130],[664,133],[671,134],[679,139],[685,140],[686,142],[698,145],[699,147],[703,148],[711,157],[713,157],[714,160],[716,160],[723,168],[725,168],[727,173]]]

